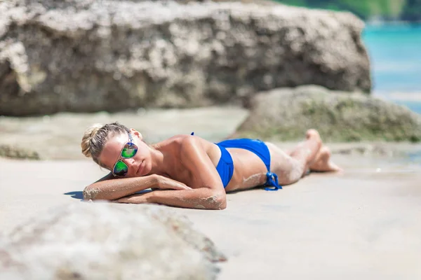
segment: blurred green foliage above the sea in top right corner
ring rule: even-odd
[[[421,20],[421,0],[275,0],[293,6],[347,10],[363,20]]]

